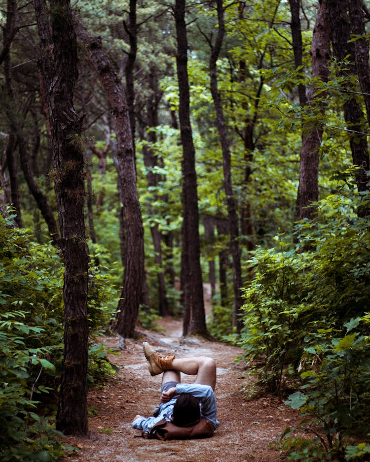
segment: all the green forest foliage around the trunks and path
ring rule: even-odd
[[[186,3],[203,282],[210,279],[209,264],[215,264],[218,274],[222,252],[227,254],[226,296],[221,297],[216,277],[209,330],[219,339],[242,345],[244,360],[255,367],[259,393],[272,390],[287,404],[300,408],[301,427],[308,429],[308,438],[297,438],[294,429],[287,429],[280,442],[291,460],[366,460],[370,452],[370,231],[369,218],[359,218],[357,213],[368,198],[355,191],[355,168],[342,114],[348,94],[341,90],[345,77],[337,71],[346,69],[348,63],[332,61],[329,81],[312,81],[309,47],[317,1],[300,2],[303,64],[298,69],[288,1],[224,2],[226,36],[217,63],[219,91],[236,209],[239,218],[246,209],[249,213],[248,227],[240,220],[245,305],[244,329],[239,336],[232,328],[229,236],[216,225],[213,237],[205,231],[205,218],[214,223],[227,220],[222,150],[209,88],[209,55],[217,30],[215,2]],[[365,3],[369,6],[369,1]],[[12,41],[8,63],[11,102],[19,111],[16,123],[25,137],[33,176],[57,216],[47,120],[39,91],[38,37],[30,5],[18,1],[20,29]],[[137,2],[135,148],[148,287],[148,306],[140,309],[139,325],[151,329],[159,312],[160,274],[165,274],[171,313],[182,314],[178,284],[183,250],[182,146],[172,5]],[[86,29],[102,37],[124,81],[130,46],[125,27],[129,2],[78,0],[73,6]],[[6,8],[7,2],[0,1],[2,27]],[[83,45],[78,53],[74,104],[84,114],[85,169],[92,188],[88,197],[92,205],[90,210],[86,207],[86,217],[90,212],[93,218],[89,226],[86,220],[91,237],[88,380],[92,385],[114,372],[107,351],[95,340],[97,334],[109,331],[114,317],[124,270],[124,238],[118,220],[122,203],[117,192],[111,113]],[[322,91],[317,106],[299,106],[300,83]],[[365,112],[358,82],[352,84]],[[2,85],[0,100],[8,102],[4,88]],[[9,138],[4,107],[0,105],[1,205],[11,202],[3,154]],[[153,122],[154,109],[157,120]],[[325,130],[320,144],[317,220],[296,224],[302,121]],[[155,165],[146,164],[146,150]],[[13,155],[20,164],[17,150]],[[153,173],[155,185],[148,187]],[[21,172],[18,181],[23,228],[12,228],[11,210],[5,217],[0,215],[0,458],[51,460],[62,454],[57,442],[60,435],[52,423],[63,355],[63,262],[49,243],[46,224]],[[162,238],[162,265],[151,234],[155,227]]]

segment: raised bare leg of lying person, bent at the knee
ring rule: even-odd
[[[212,358],[208,358],[207,356],[174,358],[171,366],[174,371],[183,372],[186,375],[196,375],[194,383],[210,385],[212,389],[215,390],[216,362]],[[167,372],[171,371],[166,371],[164,374],[167,374]],[[167,380],[168,379],[166,378],[166,381]]]

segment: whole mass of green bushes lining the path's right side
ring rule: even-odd
[[[290,460],[338,460],[351,437],[370,432],[370,232],[354,205],[368,199],[352,195],[323,199],[317,223],[297,227],[311,251],[278,236],[279,249],[258,249],[250,262],[240,343],[259,384],[281,396],[299,390],[286,403],[305,416],[299,428],[316,435],[287,429]]]

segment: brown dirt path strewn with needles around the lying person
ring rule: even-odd
[[[89,392],[88,407],[96,415],[89,418],[88,438],[68,437],[80,454],[72,453],[64,462],[276,462],[280,454],[269,449],[283,430],[296,423],[296,414],[274,396],[245,401],[240,391],[247,385],[242,366],[234,364],[241,350],[219,342],[198,338],[182,340],[181,322],[163,319],[163,332],[144,331],[146,338],[127,341],[128,351],[113,356],[120,371],[103,389]],[[142,341],[148,340],[158,351],[174,351],[178,356],[206,355],[217,361],[216,397],[220,428],[213,438],[187,441],[156,441],[135,437],[131,428],[136,414],[149,416],[157,403],[161,376],[147,370]],[[114,346],[117,339],[105,343]],[[247,376],[248,377],[248,376]],[[250,383],[252,383],[252,379]],[[192,378],[183,375],[184,382]]]

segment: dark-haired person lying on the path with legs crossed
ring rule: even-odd
[[[217,406],[214,389],[216,386],[216,363],[207,356],[175,358],[175,355],[161,355],[148,342],[143,343],[148,370],[152,376],[161,374],[162,386],[159,406],[152,417],[137,415],[132,427],[149,433],[162,419],[178,427],[188,427],[201,418],[212,422],[216,430]],[[196,375],[194,383],[181,383],[181,372]]]

